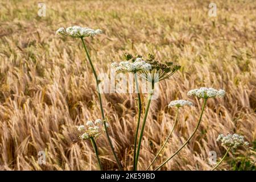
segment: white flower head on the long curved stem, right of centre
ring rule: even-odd
[[[200,89],[190,90],[188,96],[196,96],[200,98],[224,97],[225,90],[201,87]]]

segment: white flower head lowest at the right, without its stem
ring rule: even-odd
[[[227,146],[237,148],[238,146],[249,146],[249,142],[245,141],[245,138],[238,134],[223,134],[218,135],[217,142],[221,142],[221,146]]]

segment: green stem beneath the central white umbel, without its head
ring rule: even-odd
[[[141,96],[139,94],[139,84],[138,84],[138,79],[137,79],[137,73],[134,73],[134,78],[135,78],[135,85],[138,93],[138,122],[137,122],[137,127],[135,131],[135,137],[134,137],[134,154],[133,154],[133,170],[135,170],[135,159],[136,159],[136,147],[137,147],[137,138],[138,138],[138,132],[139,132],[139,123],[141,122]]]

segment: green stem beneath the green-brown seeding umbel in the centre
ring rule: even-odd
[[[154,90],[154,84],[152,84],[152,90]],[[134,171],[137,171],[137,165],[138,165],[138,160],[139,160],[139,150],[141,150],[141,141],[142,141],[142,137],[143,137],[144,127],[145,127],[145,124],[146,124],[147,113],[148,113],[148,109],[150,107],[150,102],[151,102],[152,95],[153,95],[153,93],[150,93],[149,96],[148,96],[148,100],[147,100],[147,107],[146,107],[145,115],[144,115],[144,118],[143,118],[141,134],[139,135],[139,142],[138,142],[138,149],[137,149],[136,158],[135,158]]]

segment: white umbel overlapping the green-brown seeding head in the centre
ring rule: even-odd
[[[134,61],[121,61],[120,63],[112,63],[111,67],[115,68],[116,72],[140,72],[150,71],[151,64],[146,63],[141,57],[137,57]]]

